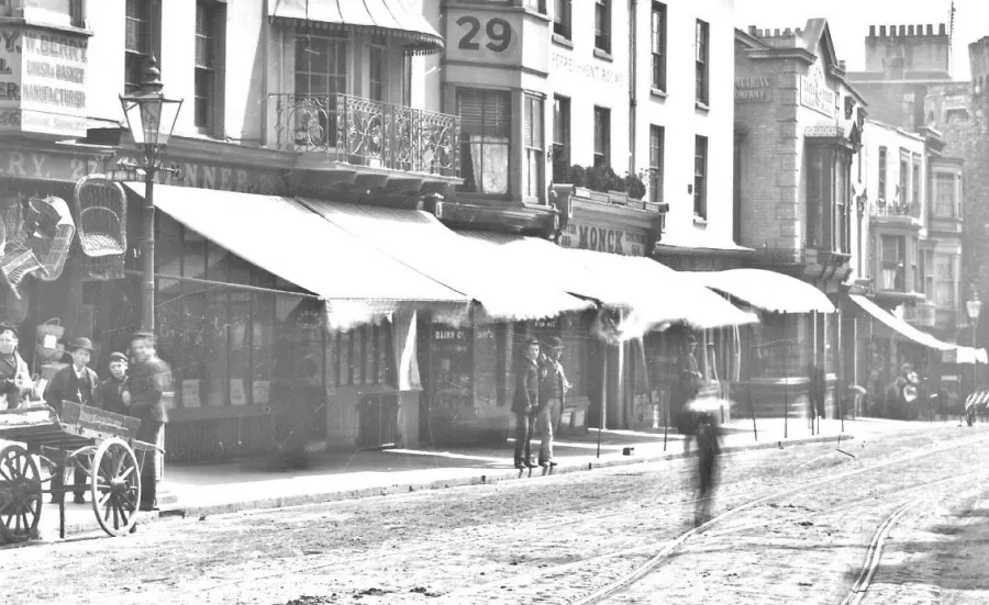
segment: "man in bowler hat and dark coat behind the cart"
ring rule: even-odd
[[[87,363],[92,355],[92,341],[89,338],[76,338],[69,345],[69,355],[73,362],[69,366],[58,370],[52,378],[48,388],[45,389],[45,402],[51,405],[58,415],[62,415],[62,402],[70,401],[80,405],[89,405],[92,407],[102,407],[102,389],[100,388],[100,379]],[[52,502],[60,502],[63,494],[59,493],[64,481],[65,473],[56,473],[52,478]],[[76,466],[73,471],[73,493],[76,504],[85,504],[86,498],[86,469]]]

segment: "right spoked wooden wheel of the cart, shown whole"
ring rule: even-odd
[[[92,509],[103,531],[125,536],[137,520],[141,467],[134,450],[118,438],[100,444],[90,473]]]

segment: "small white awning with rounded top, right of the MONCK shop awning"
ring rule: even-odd
[[[824,292],[797,278],[765,269],[686,272],[698,283],[771,313],[834,313]]]

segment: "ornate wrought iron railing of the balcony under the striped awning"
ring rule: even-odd
[[[460,121],[455,115],[351,94],[271,94],[275,146],[327,154],[355,166],[457,177]]]

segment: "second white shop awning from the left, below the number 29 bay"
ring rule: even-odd
[[[523,270],[497,248],[478,246],[427,212],[302,202],[381,253],[479,302],[491,320],[541,320],[593,307],[545,280],[545,271],[554,269],[549,259],[530,258]]]

